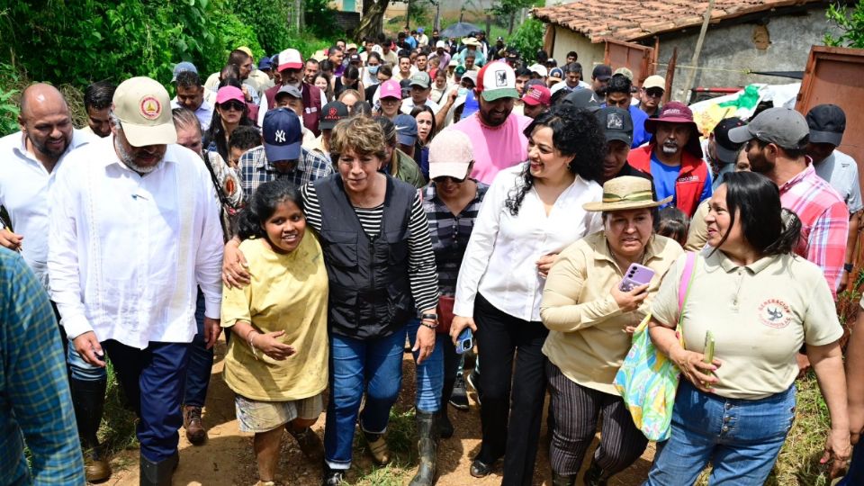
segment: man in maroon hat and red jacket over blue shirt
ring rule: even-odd
[[[630,150],[627,163],[650,172],[657,197],[672,196],[669,205],[692,217],[699,202],[712,193],[711,170],[702,159],[693,112],[684,103],[670,102],[663,105],[660,117],[644,123],[653,138],[648,145]]]

